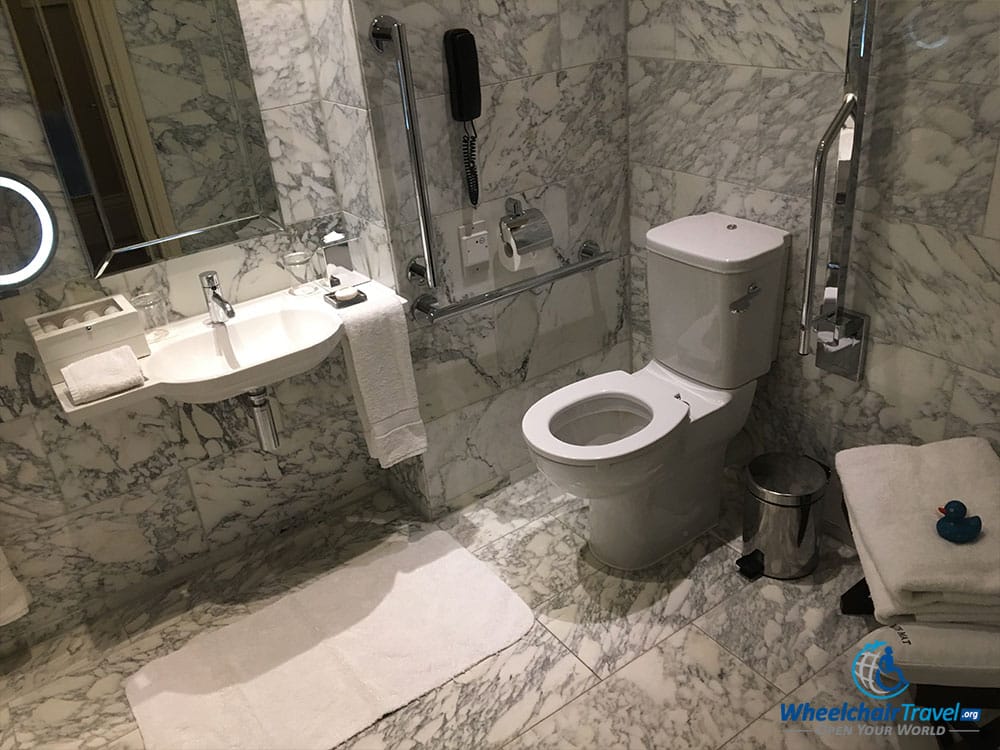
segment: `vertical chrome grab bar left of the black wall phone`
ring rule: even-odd
[[[371,25],[371,40],[375,49],[384,52],[392,44],[396,52],[396,73],[399,76],[399,95],[403,105],[403,124],[406,127],[406,145],[410,151],[413,172],[413,191],[417,199],[417,221],[420,224],[420,242],[424,250],[423,262],[410,261],[407,272],[423,278],[427,286],[437,286],[437,270],[431,245],[430,201],[427,199],[427,175],[420,146],[420,122],[417,117],[417,97],[413,91],[413,68],[410,65],[410,48],[406,43],[406,26],[392,16],[377,16]]]

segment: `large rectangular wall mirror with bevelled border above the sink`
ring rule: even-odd
[[[236,0],[2,0],[95,276],[281,227]]]

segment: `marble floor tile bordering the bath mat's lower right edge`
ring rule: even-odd
[[[597,683],[539,624],[339,750],[467,750],[499,747]]]

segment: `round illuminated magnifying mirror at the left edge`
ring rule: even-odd
[[[27,284],[52,260],[56,219],[30,182],[0,172],[0,291]]]

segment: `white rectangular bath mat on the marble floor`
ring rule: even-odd
[[[531,623],[503,581],[438,531],[194,638],[126,693],[148,750],[330,750]]]

